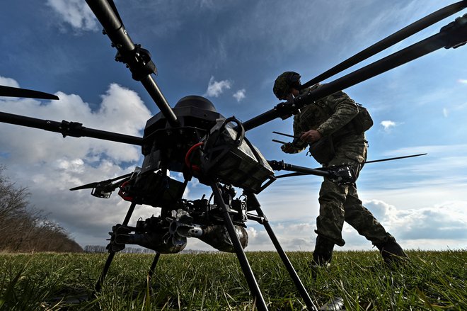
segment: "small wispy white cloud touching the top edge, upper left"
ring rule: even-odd
[[[88,4],[81,0],[47,0],[65,23],[77,30],[97,30],[98,23]]]

